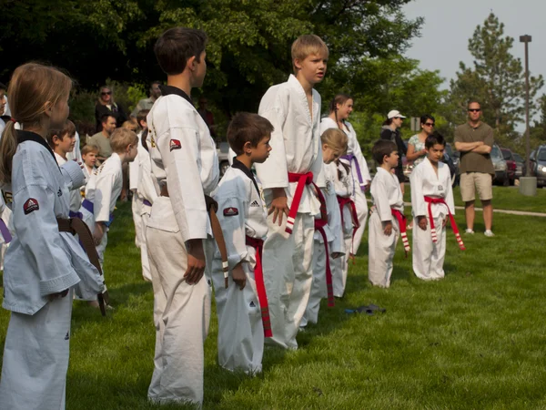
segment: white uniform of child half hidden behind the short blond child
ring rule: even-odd
[[[348,199],[352,200],[352,178],[348,173],[347,166],[342,163],[333,163],[333,166],[326,168],[328,178],[334,180],[334,190],[338,200]],[[349,168],[349,167],[348,167]],[[350,171],[350,169],[349,169]],[[354,202],[354,201],[353,201]],[[353,217],[353,208],[350,203],[344,206],[339,206],[339,213],[341,215],[340,232],[342,240],[345,245],[345,255],[338,259],[332,260],[332,276],[334,285],[334,296],[340,298],[345,293],[345,287],[347,285],[347,274],[349,272],[349,260],[352,254],[356,253],[353,243],[353,235],[357,228],[358,211],[356,217]],[[356,208],[356,204],[355,204]]]

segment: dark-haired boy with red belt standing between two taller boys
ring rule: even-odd
[[[272,131],[271,123],[257,114],[238,113],[231,120],[227,142],[237,158],[212,194],[224,237],[229,238],[231,272],[226,289],[222,260],[216,251],[212,281],[217,301],[218,364],[248,374],[261,372],[264,336],[271,335],[261,263],[268,210],[261,199],[260,183],[250,169],[268,159]]]

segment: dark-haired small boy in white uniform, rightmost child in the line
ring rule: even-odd
[[[413,272],[424,281],[439,280],[445,275],[443,261],[448,217],[460,249],[465,249],[453,218],[455,204],[450,168],[441,162],[445,147],[446,141],[439,133],[427,137],[427,158],[410,176],[411,208],[416,227],[413,230]]]

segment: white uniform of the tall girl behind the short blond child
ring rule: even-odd
[[[355,232],[353,238],[353,248],[356,254],[357,251],[359,251],[362,235],[366,229],[366,220],[368,220],[368,200],[366,200],[365,187],[369,188],[371,177],[369,175],[368,164],[362,155],[362,149],[360,149],[359,139],[357,138],[355,128],[353,128],[349,121],[345,121],[344,123],[345,128],[342,129],[342,131],[345,132],[349,140],[347,144],[347,154],[343,156],[340,161],[350,166],[352,177],[351,200],[355,202],[357,214],[359,215],[359,229]],[[329,128],[338,128],[336,121],[329,117],[322,118],[322,121],[320,121],[320,134],[322,135],[322,133]],[[357,166],[359,169],[357,169]],[[362,184],[360,184],[359,181],[359,170]]]

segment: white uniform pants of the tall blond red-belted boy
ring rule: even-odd
[[[297,349],[296,335],[311,292],[315,218],[298,213],[292,234],[285,231],[286,216],[279,227],[268,216],[268,239],[264,243],[264,282],[268,292],[273,337],[266,343]]]

